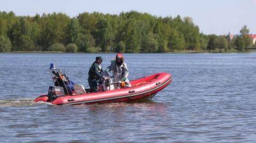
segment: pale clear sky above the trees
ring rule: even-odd
[[[17,16],[61,12],[76,17],[93,11],[118,15],[131,10],[157,17],[191,17],[204,34],[239,34],[243,26],[256,34],[256,0],[0,0],[0,11]]]

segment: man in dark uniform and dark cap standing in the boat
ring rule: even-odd
[[[92,63],[92,66],[89,70],[88,82],[92,92],[98,92],[97,84],[104,79],[102,76],[102,57],[96,57],[96,61]]]

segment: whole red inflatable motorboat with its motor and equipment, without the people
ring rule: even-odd
[[[50,68],[50,70],[52,69]],[[54,71],[55,73],[60,73],[52,76],[55,86],[50,86],[48,94],[39,96],[34,100],[35,102],[50,102],[54,105],[77,105],[151,100],[157,92],[172,82],[172,75],[169,73],[156,73],[148,77],[131,80],[131,87],[111,89],[109,82],[104,82],[103,84],[107,86],[102,87],[102,91],[90,93],[88,89],[84,89],[79,84],[74,84],[71,80],[65,79],[65,77],[62,77],[62,79],[65,79],[63,83],[66,83],[66,86],[63,86],[63,84],[62,86],[61,84],[56,86],[57,79],[58,77],[60,78],[62,73],[57,69],[54,69]],[[72,88],[68,88],[71,84],[73,84]]]

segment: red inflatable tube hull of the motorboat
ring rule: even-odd
[[[169,73],[156,73],[148,77],[132,80],[132,87],[98,93],[86,93],[74,96],[61,96],[51,103],[54,105],[100,104],[119,102],[138,102],[151,100],[159,91],[172,82]],[[50,102],[47,95],[40,96],[35,102]]]

